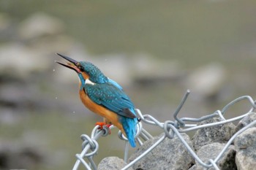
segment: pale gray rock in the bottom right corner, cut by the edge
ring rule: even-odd
[[[256,167],[256,128],[249,128],[235,139],[236,165],[238,170]]]

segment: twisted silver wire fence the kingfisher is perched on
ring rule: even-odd
[[[178,117],[178,113],[180,112],[181,108],[183,107],[185,101],[187,100],[187,97],[189,96],[190,91],[187,90],[184,97],[181,100],[181,103],[179,104],[178,108],[176,109],[176,112],[174,112],[173,117],[174,121],[166,120],[164,123],[159,122],[156,118],[152,117],[151,115],[143,115],[140,112],[140,109],[136,109],[138,117],[140,117],[140,122],[138,123],[138,130],[137,134],[135,136],[135,139],[139,145],[143,144],[143,141],[147,141],[148,139],[153,139],[153,136],[148,133],[143,128],[143,123],[149,124],[149,125],[157,125],[159,128],[162,128],[162,130],[165,132],[165,135],[160,137],[157,142],[155,142],[151,147],[149,147],[143,154],[138,156],[138,158],[135,158],[132,162],[128,163],[127,166],[125,166],[122,170],[129,169],[131,166],[133,166],[135,163],[140,161],[145,155],[147,155],[151,150],[153,150],[155,147],[157,147],[165,138],[173,139],[174,135],[178,136],[178,139],[181,140],[182,144],[187,148],[188,152],[192,155],[193,158],[195,158],[195,161],[200,163],[201,166],[208,169],[210,167],[214,167],[215,169],[219,169],[217,166],[217,162],[222,157],[222,155],[227,151],[227,148],[230,146],[230,144],[233,142],[233,140],[238,136],[238,134],[241,134],[243,131],[246,131],[246,129],[252,127],[253,125],[256,125],[256,120],[254,120],[252,123],[249,123],[244,128],[241,128],[236,134],[234,134],[230,140],[225,144],[225,147],[222,149],[221,152],[219,152],[219,155],[213,160],[210,159],[206,162],[203,162],[195,153],[194,150],[192,150],[191,147],[189,147],[189,144],[184,140],[184,138],[181,136],[181,133],[187,133],[189,131],[195,131],[197,129],[201,128],[208,128],[216,125],[222,125],[225,123],[231,123],[236,120],[241,120],[243,117],[248,115],[251,112],[254,112],[256,108],[256,101],[252,99],[251,96],[241,96],[239,98],[236,98],[235,100],[231,101],[229,104],[227,104],[225,107],[223,107],[222,110],[217,110],[216,112],[206,115],[200,118],[192,118],[192,117]],[[227,112],[227,109],[232,107],[234,104],[240,102],[240,101],[247,101],[249,102],[251,108],[248,112],[245,112],[243,115],[239,115],[237,117],[233,117],[230,119],[225,119],[225,113]],[[221,121],[215,122],[215,123],[207,123],[203,125],[197,125],[195,123],[199,123],[203,120],[208,120],[212,117],[220,117]],[[78,167],[82,164],[86,169],[97,169],[97,165],[94,163],[94,155],[99,150],[99,144],[97,143],[97,139],[99,139],[100,136],[107,136],[110,132],[110,129],[114,128],[113,125],[110,126],[110,128],[103,127],[103,129],[99,130],[99,126],[95,126],[94,129],[91,132],[91,136],[88,136],[86,134],[83,134],[81,136],[81,139],[83,140],[82,144],[82,152],[80,154],[76,154],[77,161],[75,162],[75,165],[73,167],[73,170],[78,169]],[[129,151],[129,142],[127,141],[127,138],[121,134],[121,131],[118,131],[118,137],[125,141],[125,147],[124,147],[124,161],[127,162],[128,160],[128,151]]]

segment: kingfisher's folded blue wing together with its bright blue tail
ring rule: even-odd
[[[135,147],[135,134],[138,119],[132,101],[123,90],[117,88],[111,82],[94,85],[86,84],[84,89],[92,101],[119,115],[127,139],[131,146]]]

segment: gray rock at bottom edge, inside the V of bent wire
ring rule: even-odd
[[[204,162],[208,163],[209,159],[214,160],[217,158],[217,155],[222,151],[222,149],[225,147],[225,144],[220,143],[212,143],[207,144],[203,147],[200,147],[200,149],[197,151],[198,157]],[[222,158],[217,162],[217,166],[219,169],[222,170],[235,170],[236,169],[236,150],[233,145],[230,145],[228,147],[227,151],[224,153]],[[197,161],[196,163],[196,170],[203,170],[203,166],[200,165]],[[214,170],[214,167],[209,168],[209,170]]]

